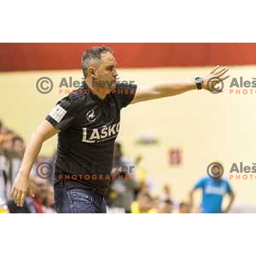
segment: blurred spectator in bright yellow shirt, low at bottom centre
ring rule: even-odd
[[[157,213],[153,208],[153,200],[149,194],[140,193],[131,204],[131,213]]]

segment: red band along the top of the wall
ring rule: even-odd
[[[119,67],[256,64],[254,43],[1,43],[0,71],[79,69],[94,45],[111,47]]]

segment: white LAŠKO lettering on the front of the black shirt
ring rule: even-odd
[[[101,128],[83,128],[83,139],[82,142],[86,143],[98,143],[105,140],[111,140],[116,137],[119,133],[120,124],[113,124],[103,126]]]

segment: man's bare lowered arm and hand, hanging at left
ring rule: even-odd
[[[17,206],[23,206],[24,204],[28,189],[29,174],[43,142],[58,133],[58,131],[47,120],[43,120],[31,135],[12,188],[12,196]]]

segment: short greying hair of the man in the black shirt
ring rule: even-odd
[[[107,46],[95,46],[86,50],[82,54],[82,70],[84,74],[84,78],[87,77],[87,70],[92,64],[93,61],[100,60],[102,58],[102,54],[106,52],[111,52],[111,49]]]

